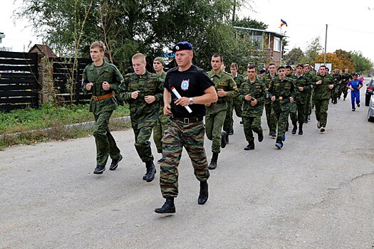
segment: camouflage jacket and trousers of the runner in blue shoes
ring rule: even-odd
[[[276,97],[276,100],[271,102],[271,109],[274,111],[276,122],[278,123],[276,142],[282,143],[291,108],[289,97],[294,97],[295,85],[290,78],[280,80],[279,77],[277,77],[271,80],[268,92],[270,98],[272,96]]]

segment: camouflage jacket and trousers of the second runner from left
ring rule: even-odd
[[[128,73],[120,85],[119,99],[130,104],[131,126],[135,134],[135,149],[142,161],[153,161],[150,135],[160,115],[160,101],[163,99],[163,83],[160,76],[145,72],[144,75]],[[136,99],[131,92],[139,90]],[[144,97],[154,95],[156,100],[148,104]]]

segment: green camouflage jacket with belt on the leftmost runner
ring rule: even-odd
[[[103,89],[104,81],[107,81],[110,84],[109,90]],[[118,90],[118,85],[120,85],[122,81],[123,76],[115,65],[104,61],[103,68],[101,68],[100,73],[97,73],[95,64],[91,63],[83,70],[83,93],[92,94],[93,96],[98,97],[109,94],[113,91],[116,92]],[[93,83],[90,90],[87,90],[87,83]],[[90,100],[90,112],[93,112],[93,115],[98,115],[100,112],[113,111],[117,109],[117,107],[117,101],[114,96],[108,97],[104,100]]]

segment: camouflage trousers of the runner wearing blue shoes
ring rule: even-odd
[[[276,141],[279,142],[286,133],[287,123],[289,122],[289,112],[291,109],[291,103],[289,102],[289,100],[275,100],[271,103],[271,108],[274,111],[276,124],[278,124]]]

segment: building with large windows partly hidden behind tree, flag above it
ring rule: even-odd
[[[283,39],[284,36],[281,33],[265,31],[256,28],[244,28],[234,26],[237,30],[237,36],[239,33],[248,36],[249,41],[253,41],[257,51],[265,52],[267,62],[273,62],[276,66],[281,65],[283,59]],[[265,66],[265,65],[264,65]]]

